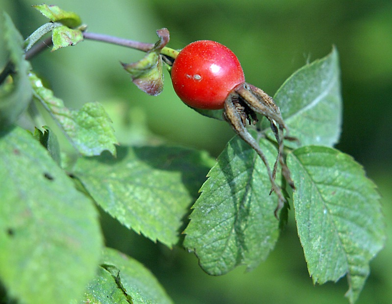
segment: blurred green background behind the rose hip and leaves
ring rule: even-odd
[[[30,7],[41,4],[37,0],[0,0],[0,4],[24,37],[47,22]],[[247,82],[270,95],[296,69],[325,56],[335,45],[344,103],[337,148],[363,164],[377,184],[391,235],[391,0],[55,0],[48,4],[78,13],[91,32],[154,43],[156,29],[167,27],[172,48],[200,39],[221,42],[240,59]],[[233,136],[230,127],[201,117],[180,102],[167,73],[163,94],[151,97],[140,92],[119,61],[133,62],[142,56],[136,50],[86,41],[41,53],[32,65],[67,106],[101,102],[123,144],[143,143],[154,134],[218,156]],[[313,286],[292,212],[266,262],[253,272],[240,267],[222,277],[203,273],[196,257],[182,249],[154,244],[104,214],[102,222],[108,246],[142,261],[177,304],[347,303],[345,278]],[[357,303],[392,303],[390,239],[371,262],[370,277]]]

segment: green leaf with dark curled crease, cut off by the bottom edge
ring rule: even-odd
[[[88,285],[84,302],[171,304],[165,290],[141,263],[110,248],[103,251],[97,278]]]

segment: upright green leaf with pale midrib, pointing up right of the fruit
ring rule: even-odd
[[[294,72],[273,97],[287,123],[290,136],[301,146],[333,146],[338,142],[342,124],[339,56],[332,52]],[[274,140],[270,123],[263,119],[263,129]],[[295,147],[296,142],[286,141]]]

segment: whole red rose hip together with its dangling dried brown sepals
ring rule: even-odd
[[[278,196],[276,215],[285,201],[275,183],[278,162],[282,166],[283,177],[295,188],[282,155],[283,139],[293,139],[283,135],[288,128],[278,106],[263,90],[245,82],[244,71],[236,55],[214,41],[201,40],[184,47],[174,59],[171,72],[174,91],[184,103],[197,109],[224,109],[223,118],[260,156],[267,167],[271,192]],[[272,170],[259,144],[246,129],[247,123],[257,122],[256,113],[270,121],[278,143],[278,155]]]

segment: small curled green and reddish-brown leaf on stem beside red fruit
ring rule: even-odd
[[[146,56],[135,63],[122,63],[132,77],[132,82],[143,92],[156,96],[163,90],[163,71],[161,50],[169,42],[169,31],[166,28],[157,30],[160,40],[149,50]]]

